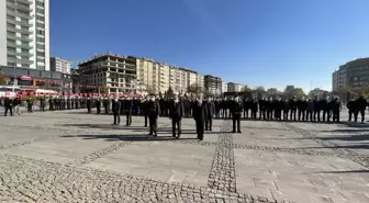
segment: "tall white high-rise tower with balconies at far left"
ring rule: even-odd
[[[0,65],[49,70],[49,1],[0,1]]]

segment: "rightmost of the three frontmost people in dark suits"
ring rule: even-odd
[[[202,103],[202,99],[199,98],[194,103],[193,103],[193,119],[195,121],[195,128],[197,128],[197,134],[198,134],[198,139],[202,140],[203,139],[203,134],[204,134],[204,122],[205,122],[205,116],[208,114],[206,112],[208,108],[205,104]]]

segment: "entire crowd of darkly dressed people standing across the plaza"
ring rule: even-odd
[[[8,112],[21,114],[21,97],[5,98],[3,105],[4,115]],[[27,112],[33,112],[35,100],[26,100]],[[97,109],[100,114],[101,108],[105,114],[112,111],[114,115],[113,125],[120,125],[121,115],[126,117],[126,126],[132,124],[132,115],[143,115],[145,126],[149,126],[149,135],[157,136],[157,120],[159,116],[168,116],[172,123],[172,136],[179,138],[181,134],[181,120],[193,117],[199,139],[203,139],[204,131],[212,131],[213,119],[232,119],[233,133],[241,133],[241,119],[265,120],[265,121],[301,121],[301,122],[340,122],[342,102],[339,98],[325,98],[322,100],[304,98],[291,99],[281,98],[251,98],[242,100],[233,98],[179,98],[171,99],[149,95],[142,98],[62,98],[42,97],[38,99],[40,111],[44,112],[46,104],[49,111],[87,109],[92,113]],[[359,97],[347,102],[349,121],[357,122],[361,115],[361,123],[365,122],[365,111],[368,102]],[[13,112],[14,111],[14,112]]]

